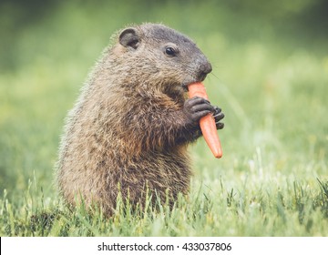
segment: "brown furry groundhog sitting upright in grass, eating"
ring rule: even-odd
[[[57,183],[71,205],[97,205],[107,215],[118,193],[131,205],[172,206],[188,194],[188,145],[200,138],[200,117],[219,107],[188,99],[188,85],[205,79],[210,62],[189,37],[159,24],[130,26],[112,37],[67,116]]]

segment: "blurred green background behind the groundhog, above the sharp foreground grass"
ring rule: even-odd
[[[327,179],[327,11],[324,0],[1,1],[0,192],[24,203],[15,198],[32,180],[56,198],[67,110],[110,36],[142,22],[190,36],[212,63],[205,84],[226,115],[224,156],[197,142],[196,179]]]

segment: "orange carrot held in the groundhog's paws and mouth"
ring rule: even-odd
[[[200,82],[192,83],[188,86],[189,97],[203,97],[209,99],[206,94],[206,88]],[[215,158],[222,157],[222,148],[220,147],[220,139],[218,136],[217,128],[215,125],[215,120],[212,114],[200,118],[200,129],[201,133],[208,144],[211,152],[214,154]]]

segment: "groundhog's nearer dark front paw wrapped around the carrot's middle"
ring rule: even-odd
[[[210,112],[215,112],[215,107],[210,105],[210,102],[202,97],[192,97],[187,99],[183,106],[189,124],[198,126],[200,117],[208,115]]]

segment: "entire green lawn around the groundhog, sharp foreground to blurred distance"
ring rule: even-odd
[[[124,5],[56,5],[16,32],[0,55],[10,64],[0,76],[1,236],[328,235],[327,38],[300,40],[297,29],[289,35],[246,11],[232,22],[228,5],[190,4],[183,15],[180,7],[168,1],[138,15]],[[186,20],[196,10],[209,18]],[[63,119],[109,36],[145,20],[188,34],[209,56],[205,84],[226,115],[223,158],[202,139],[190,147],[190,196],[171,211],[118,203],[105,219],[67,209],[54,185]]]

